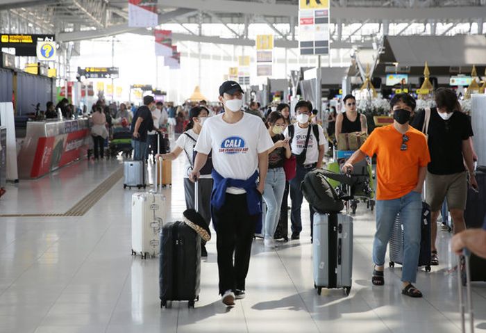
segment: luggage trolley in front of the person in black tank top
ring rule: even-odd
[[[351,157],[354,152],[354,150],[335,150],[334,162],[328,163],[327,170],[341,172],[341,166]],[[351,175],[353,178],[357,179],[354,189],[354,199],[349,200],[346,202],[346,204],[349,205],[349,209],[353,214],[356,213],[359,202],[366,202],[367,209],[371,209],[371,211],[373,211],[375,206],[375,190],[371,159],[367,157],[364,159],[364,161],[356,163],[353,169],[354,170]],[[340,187],[340,183],[338,181],[330,179],[329,183],[334,188]]]

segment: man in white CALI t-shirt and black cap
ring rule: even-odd
[[[212,222],[217,234],[219,293],[227,306],[245,295],[251,243],[261,223],[268,149],[274,145],[261,118],[241,111],[242,97],[243,90],[235,81],[219,87],[225,112],[204,123],[191,174],[193,180],[199,177],[212,152]]]

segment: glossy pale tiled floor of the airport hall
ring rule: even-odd
[[[63,213],[116,168],[119,161],[63,168],[49,177],[9,185],[0,213]],[[167,220],[185,209],[182,158],[167,188]],[[82,217],[0,218],[0,332],[460,332],[458,293],[449,252],[439,233],[442,265],[420,271],[423,299],[400,294],[400,268],[371,286],[373,214],[355,217],[353,289],[312,289],[308,222],[301,241],[278,251],[253,244],[247,297],[226,309],[217,295],[215,239],[202,264],[195,309],[160,309],[158,260],[131,257],[131,193],[119,181]],[[308,216],[308,211],[305,211]],[[308,218],[305,218],[308,221]],[[486,330],[486,284],[474,284],[476,330]],[[484,331],[486,332],[486,331]]]

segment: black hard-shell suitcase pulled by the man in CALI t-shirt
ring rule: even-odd
[[[198,184],[194,208],[198,211]],[[187,300],[194,307],[201,286],[201,236],[184,222],[169,222],[160,233],[160,307],[167,301]]]

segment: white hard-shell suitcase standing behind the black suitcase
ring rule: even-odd
[[[160,249],[160,229],[166,217],[165,195],[157,186],[148,193],[132,195],[132,255],[155,257]]]

